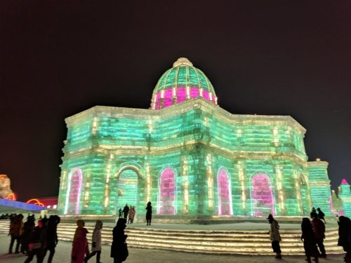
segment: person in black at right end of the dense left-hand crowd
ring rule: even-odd
[[[48,263],[53,262],[53,255],[55,255],[55,247],[58,244],[57,229],[59,223],[60,217],[58,215],[51,215],[48,218],[48,226],[46,227],[46,248],[44,250],[44,257],[46,256],[46,252],[50,252],[48,255]]]

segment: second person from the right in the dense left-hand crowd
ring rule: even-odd
[[[34,256],[37,256],[37,263],[43,262],[44,259],[44,248],[46,241],[46,229],[42,220],[38,220],[37,227],[34,227],[32,235],[29,238],[29,255],[25,260],[25,263],[31,262]]]

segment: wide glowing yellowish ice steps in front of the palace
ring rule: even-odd
[[[8,220],[0,220],[0,232],[8,233]],[[72,241],[76,224],[60,223],[58,238],[61,241]],[[93,226],[88,229],[88,240],[91,241]],[[112,227],[104,225],[102,243],[112,243]],[[202,252],[214,254],[241,255],[272,255],[271,242],[267,231],[263,230],[187,230],[187,229],[153,229],[130,227],[125,230],[128,234],[127,243],[131,248],[151,248],[178,250],[187,252]],[[303,242],[300,241],[300,230],[282,230],[282,252],[284,255],[304,255]],[[338,229],[326,229],[324,245],[327,254],[342,254],[343,249],[337,245]]]

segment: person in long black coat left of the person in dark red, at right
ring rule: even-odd
[[[314,257],[314,262],[318,263],[319,252],[317,249],[316,240],[314,238],[312,224],[307,217],[303,217],[301,231],[303,232],[301,235],[301,241],[303,241],[303,248],[305,249],[307,262],[311,263],[311,257]]]

